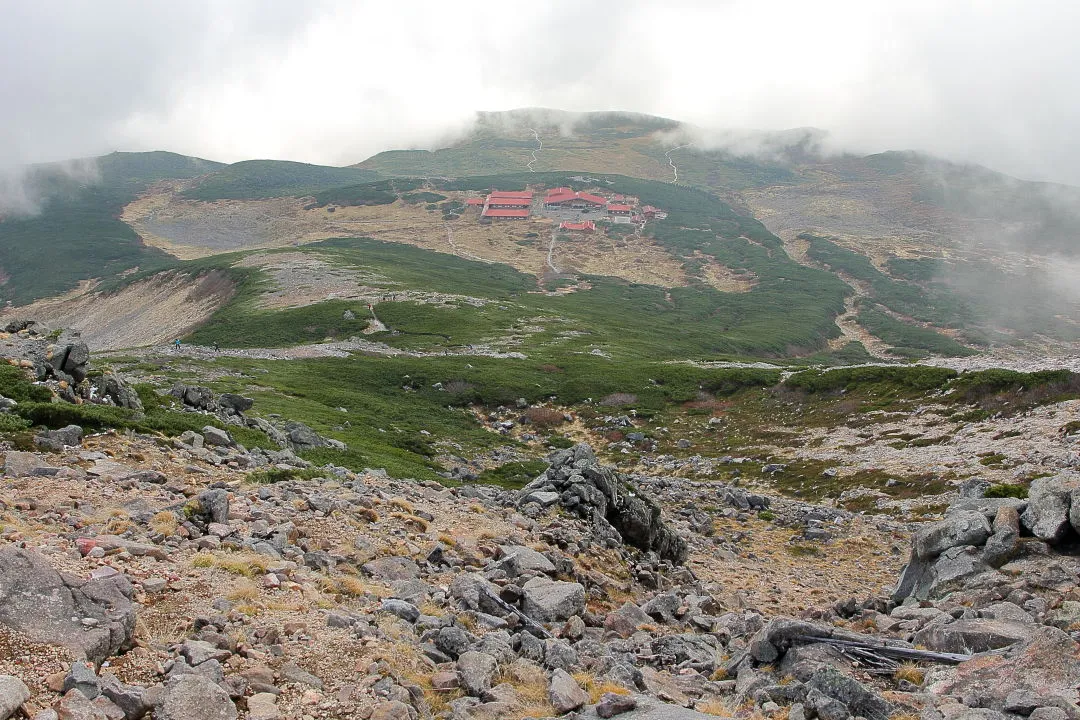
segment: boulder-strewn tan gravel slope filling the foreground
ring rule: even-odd
[[[119,404],[70,347],[28,369]],[[3,448],[0,720],[1080,719],[1080,476],[968,483],[910,534],[585,445],[509,491],[312,467],[318,435],[267,429],[280,451]]]

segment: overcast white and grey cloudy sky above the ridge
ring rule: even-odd
[[[1080,3],[10,2],[0,166],[165,149],[349,164],[476,110],[816,126],[1080,185]]]

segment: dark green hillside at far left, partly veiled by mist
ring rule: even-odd
[[[89,277],[165,264],[170,257],[146,246],[121,209],[153,182],[221,166],[172,152],[113,152],[28,168],[26,192],[38,207],[0,219],[0,301],[23,304]]]

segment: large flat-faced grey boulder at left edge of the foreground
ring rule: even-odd
[[[84,582],[35,551],[0,549],[0,623],[100,665],[134,644],[133,588],[124,575]]]

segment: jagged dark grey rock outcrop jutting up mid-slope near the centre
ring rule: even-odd
[[[671,562],[686,561],[686,541],[663,520],[660,505],[626,475],[600,465],[588,445],[556,452],[551,466],[518,495],[518,505],[532,505],[534,512],[554,502],[589,520],[608,544],[626,543]]]

